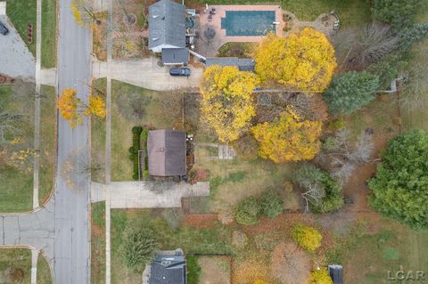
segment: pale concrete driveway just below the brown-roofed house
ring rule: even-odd
[[[181,207],[185,197],[209,196],[210,183],[110,183],[111,208],[168,208]],[[91,183],[91,201],[107,199],[108,185]]]

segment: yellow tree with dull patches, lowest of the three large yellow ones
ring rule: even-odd
[[[275,163],[314,158],[320,150],[322,122],[302,120],[292,108],[284,110],[279,118],[252,127],[259,142],[259,156]]]

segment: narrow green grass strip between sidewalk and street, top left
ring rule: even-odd
[[[42,1],[42,67],[56,66],[56,0]]]

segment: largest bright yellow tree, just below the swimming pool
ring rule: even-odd
[[[337,66],[333,45],[314,28],[289,37],[269,35],[255,55],[262,82],[274,81],[302,92],[324,92]]]

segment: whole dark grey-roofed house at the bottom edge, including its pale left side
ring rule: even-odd
[[[185,256],[181,249],[161,251],[143,272],[144,284],[186,284]]]

